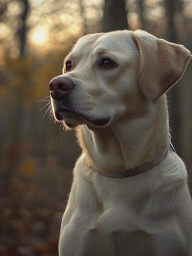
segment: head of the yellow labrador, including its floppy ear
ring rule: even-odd
[[[182,76],[190,52],[145,31],[83,36],[49,83],[54,117],[67,127],[106,127],[142,111]],[[138,104],[138,101],[140,104]]]

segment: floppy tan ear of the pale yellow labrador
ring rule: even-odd
[[[190,52],[182,45],[170,43],[145,31],[135,31],[132,39],[138,47],[139,85],[149,100],[156,100],[183,75]]]

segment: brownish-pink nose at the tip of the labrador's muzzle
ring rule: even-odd
[[[60,100],[74,87],[71,79],[58,76],[49,82],[50,95],[53,99]]]

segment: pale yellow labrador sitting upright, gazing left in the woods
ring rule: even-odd
[[[170,148],[166,95],[190,59],[145,31],[83,36],[50,81],[54,117],[77,129],[60,256],[189,256],[187,171]]]

